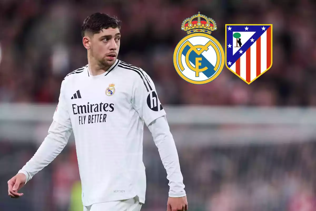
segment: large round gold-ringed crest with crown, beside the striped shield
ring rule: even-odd
[[[188,34],[174,49],[173,64],[179,76],[192,84],[206,84],[222,72],[225,64],[221,44],[210,34],[216,22],[198,12],[182,22]]]

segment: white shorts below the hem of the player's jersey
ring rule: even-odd
[[[131,199],[95,203],[90,206],[83,206],[83,211],[140,211],[142,203],[138,201],[138,197],[135,196]]]

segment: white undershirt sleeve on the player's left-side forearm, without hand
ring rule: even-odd
[[[45,166],[50,164],[67,145],[72,129],[53,121],[48,129],[48,135],[34,156],[18,173],[26,176],[25,184]]]

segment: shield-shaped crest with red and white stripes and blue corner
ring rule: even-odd
[[[272,24],[226,24],[226,67],[251,84],[272,66]]]

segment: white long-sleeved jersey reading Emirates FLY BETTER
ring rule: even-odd
[[[144,203],[145,123],[153,133],[167,170],[169,196],[184,196],[178,154],[169,127],[163,123],[165,115],[153,81],[141,68],[117,59],[105,73],[92,76],[86,65],[69,73],[61,85],[53,120],[61,127],[58,131],[67,132],[56,132],[59,135],[44,140],[46,143],[42,143],[33,160],[19,172],[33,177],[61,152],[68,141],[69,131],[73,130],[83,205],[129,199],[136,195]],[[162,126],[152,126],[155,121]],[[50,134],[55,133],[52,127]],[[53,139],[62,144],[58,145]],[[52,146],[52,143],[58,146]]]

